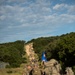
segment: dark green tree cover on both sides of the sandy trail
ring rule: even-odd
[[[75,32],[61,36],[40,37],[32,39],[35,53],[41,61],[42,52],[46,52],[47,60],[52,58],[58,60],[63,70],[65,67],[72,67],[75,72]],[[15,41],[0,44],[0,61],[8,62],[10,67],[18,67],[25,62],[23,58],[25,41]],[[26,44],[26,43],[25,43]]]

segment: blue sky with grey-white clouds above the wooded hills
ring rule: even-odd
[[[0,0],[0,43],[75,32],[75,0]]]

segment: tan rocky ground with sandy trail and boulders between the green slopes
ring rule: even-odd
[[[48,62],[39,65],[38,56],[33,50],[33,43],[25,45],[28,65],[25,67],[24,75],[74,75],[71,67],[67,67],[63,74],[60,63],[55,59],[50,59]],[[37,60],[36,60],[37,59]]]

